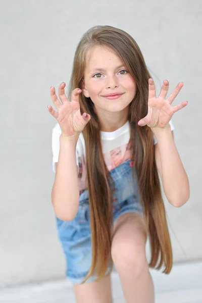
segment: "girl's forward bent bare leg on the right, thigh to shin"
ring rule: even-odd
[[[112,259],[127,303],[154,303],[154,285],[145,256],[146,229],[139,214],[128,213],[114,225]]]

